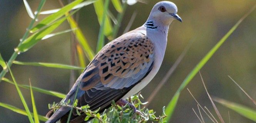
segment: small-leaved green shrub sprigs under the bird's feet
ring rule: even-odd
[[[131,109],[128,104],[125,106],[119,106],[112,102],[112,106],[109,109],[106,109],[102,114],[100,114],[98,110],[91,111],[89,105],[77,107],[77,100],[75,101],[74,105],[69,105],[69,101],[67,103],[60,102],[60,103],[53,103],[49,105],[50,110],[57,110],[61,106],[67,106],[70,108],[74,108],[78,115],[86,114],[85,121],[88,121],[90,118],[94,118],[91,120],[91,123],[165,123],[163,118],[166,117],[163,107],[162,116],[154,115],[155,112],[153,110],[149,110],[144,107],[146,103],[142,103],[140,98],[143,98],[141,94],[137,94],[127,98],[126,101],[131,103],[136,107],[136,111]]]

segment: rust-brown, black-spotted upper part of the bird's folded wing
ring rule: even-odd
[[[137,83],[153,63],[154,45],[139,32],[105,45],[82,76],[81,90],[122,89]]]

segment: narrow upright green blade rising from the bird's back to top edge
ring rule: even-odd
[[[99,32],[99,37],[98,37],[98,43],[97,43],[97,47],[96,47],[96,52],[99,52],[101,50],[102,47],[104,47],[104,33],[103,31],[105,30],[105,19],[106,19],[106,15],[107,15],[107,10],[109,8],[109,0],[105,0],[104,3],[104,10],[103,10],[103,17],[102,17],[102,23],[100,24],[100,32]]]

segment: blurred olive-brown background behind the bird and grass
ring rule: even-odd
[[[63,1],[67,2],[67,0]],[[39,2],[40,0],[28,0],[33,11],[36,10]],[[148,0],[147,2],[147,4],[136,3],[127,7],[118,35],[122,34],[132,13],[135,11],[137,16],[131,30],[141,26],[147,20],[151,8],[159,0]],[[194,42],[174,71],[174,74],[149,105],[148,108],[154,109],[157,115],[161,115],[162,107],[169,103],[181,82],[199,60],[256,3],[255,0],[172,0],[172,2],[176,3],[179,10],[178,14],[183,22],[174,21],[171,24],[162,66],[151,83],[141,91],[145,98],[144,100],[148,98],[159,81],[165,76],[186,45],[193,39]],[[60,7],[57,0],[47,0],[43,10]],[[114,15],[117,14],[111,3],[110,11]],[[79,26],[89,41],[90,46],[95,51],[99,23],[93,5],[82,8],[78,14]],[[44,17],[44,15],[40,15],[39,20],[42,20]],[[22,0],[0,0],[0,53],[4,60],[7,61],[10,58],[13,49],[18,45],[19,39],[25,33],[25,29],[30,21],[31,18],[28,17]],[[56,31],[69,28],[69,24],[65,22]],[[71,34],[66,33],[43,40],[28,50],[28,52],[18,55],[17,60],[23,62],[70,64],[70,39]],[[28,85],[28,78],[30,78],[33,86],[61,93],[69,91],[70,70],[13,65],[12,71],[19,84]],[[201,73],[211,95],[252,107],[255,110],[255,105],[228,78],[228,75],[233,77],[249,95],[256,99],[256,11],[251,13],[239,25],[236,31],[202,68]],[[5,77],[10,78],[9,73]],[[199,75],[194,77],[187,88],[191,90],[202,106],[207,106],[214,112]],[[22,92],[28,105],[30,105],[30,109],[32,109],[30,91],[22,89]],[[34,92],[34,95],[40,115],[45,115],[49,111],[48,103],[60,101],[59,98],[37,92]],[[9,83],[0,83],[0,102],[23,109],[15,86]],[[253,121],[238,115],[218,103],[216,105],[226,122],[228,122],[229,111],[231,123],[253,123]],[[196,102],[187,90],[182,91],[171,122],[199,123],[192,108],[197,109]],[[205,115],[203,116],[206,122],[209,123],[209,119]],[[27,122],[27,116],[0,107],[0,123]]]

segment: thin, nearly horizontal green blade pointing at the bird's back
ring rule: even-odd
[[[78,66],[64,65],[64,64],[59,64],[59,63],[19,62],[19,61],[13,61],[13,63],[17,64],[17,65],[43,66],[43,67],[61,68],[61,69],[70,69],[70,70],[84,70],[85,69],[85,68],[81,68]]]

